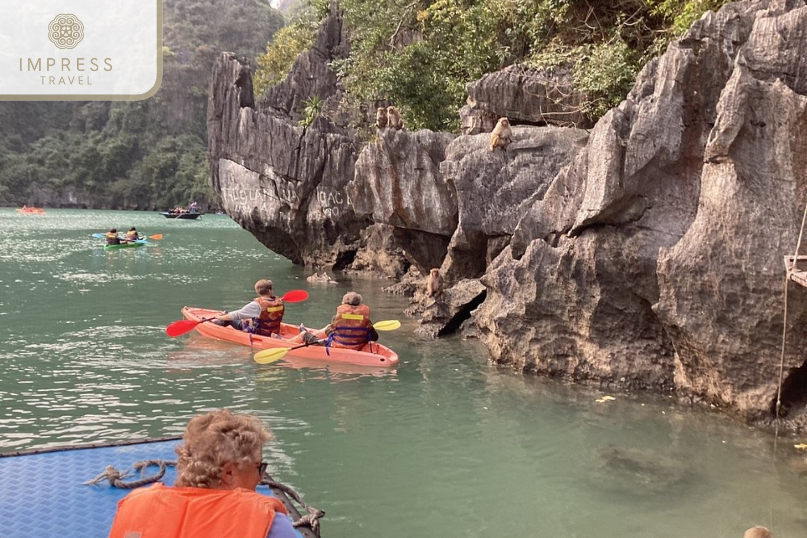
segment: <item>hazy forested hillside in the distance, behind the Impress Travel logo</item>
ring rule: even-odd
[[[207,88],[222,51],[254,57],[282,27],[266,0],[165,0],[163,79],[137,102],[0,102],[0,204],[214,204]]]

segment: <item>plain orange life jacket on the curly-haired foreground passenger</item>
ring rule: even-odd
[[[277,512],[283,504],[256,491],[157,482],[118,502],[109,538],[266,538]]]

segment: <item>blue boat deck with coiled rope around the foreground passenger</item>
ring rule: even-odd
[[[0,453],[3,538],[109,536],[118,501],[132,488],[152,482],[174,484],[174,447],[180,439],[160,437]],[[140,469],[140,473],[130,476],[126,469]],[[316,511],[304,506],[309,515],[301,517],[288,496],[302,502],[299,495],[268,474],[257,492],[278,498],[293,523],[310,521]],[[318,517],[320,511],[316,514]],[[302,524],[295,530],[299,538],[319,536]]]

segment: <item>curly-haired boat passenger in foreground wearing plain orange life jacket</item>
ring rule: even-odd
[[[109,538],[294,538],[278,498],[257,493],[266,473],[269,429],[253,415],[227,409],[190,419],[174,487],[157,482],[118,503]]]

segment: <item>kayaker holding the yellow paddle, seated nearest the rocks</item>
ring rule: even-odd
[[[370,307],[362,304],[361,295],[349,291],[342,297],[331,323],[315,332],[300,325],[300,334],[291,340],[301,344],[361,349],[367,342],[378,340],[378,332],[370,321]]]

